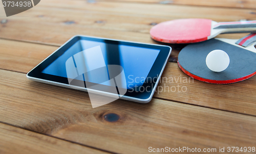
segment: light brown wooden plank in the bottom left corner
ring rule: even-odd
[[[0,153],[108,153],[0,123]]]

